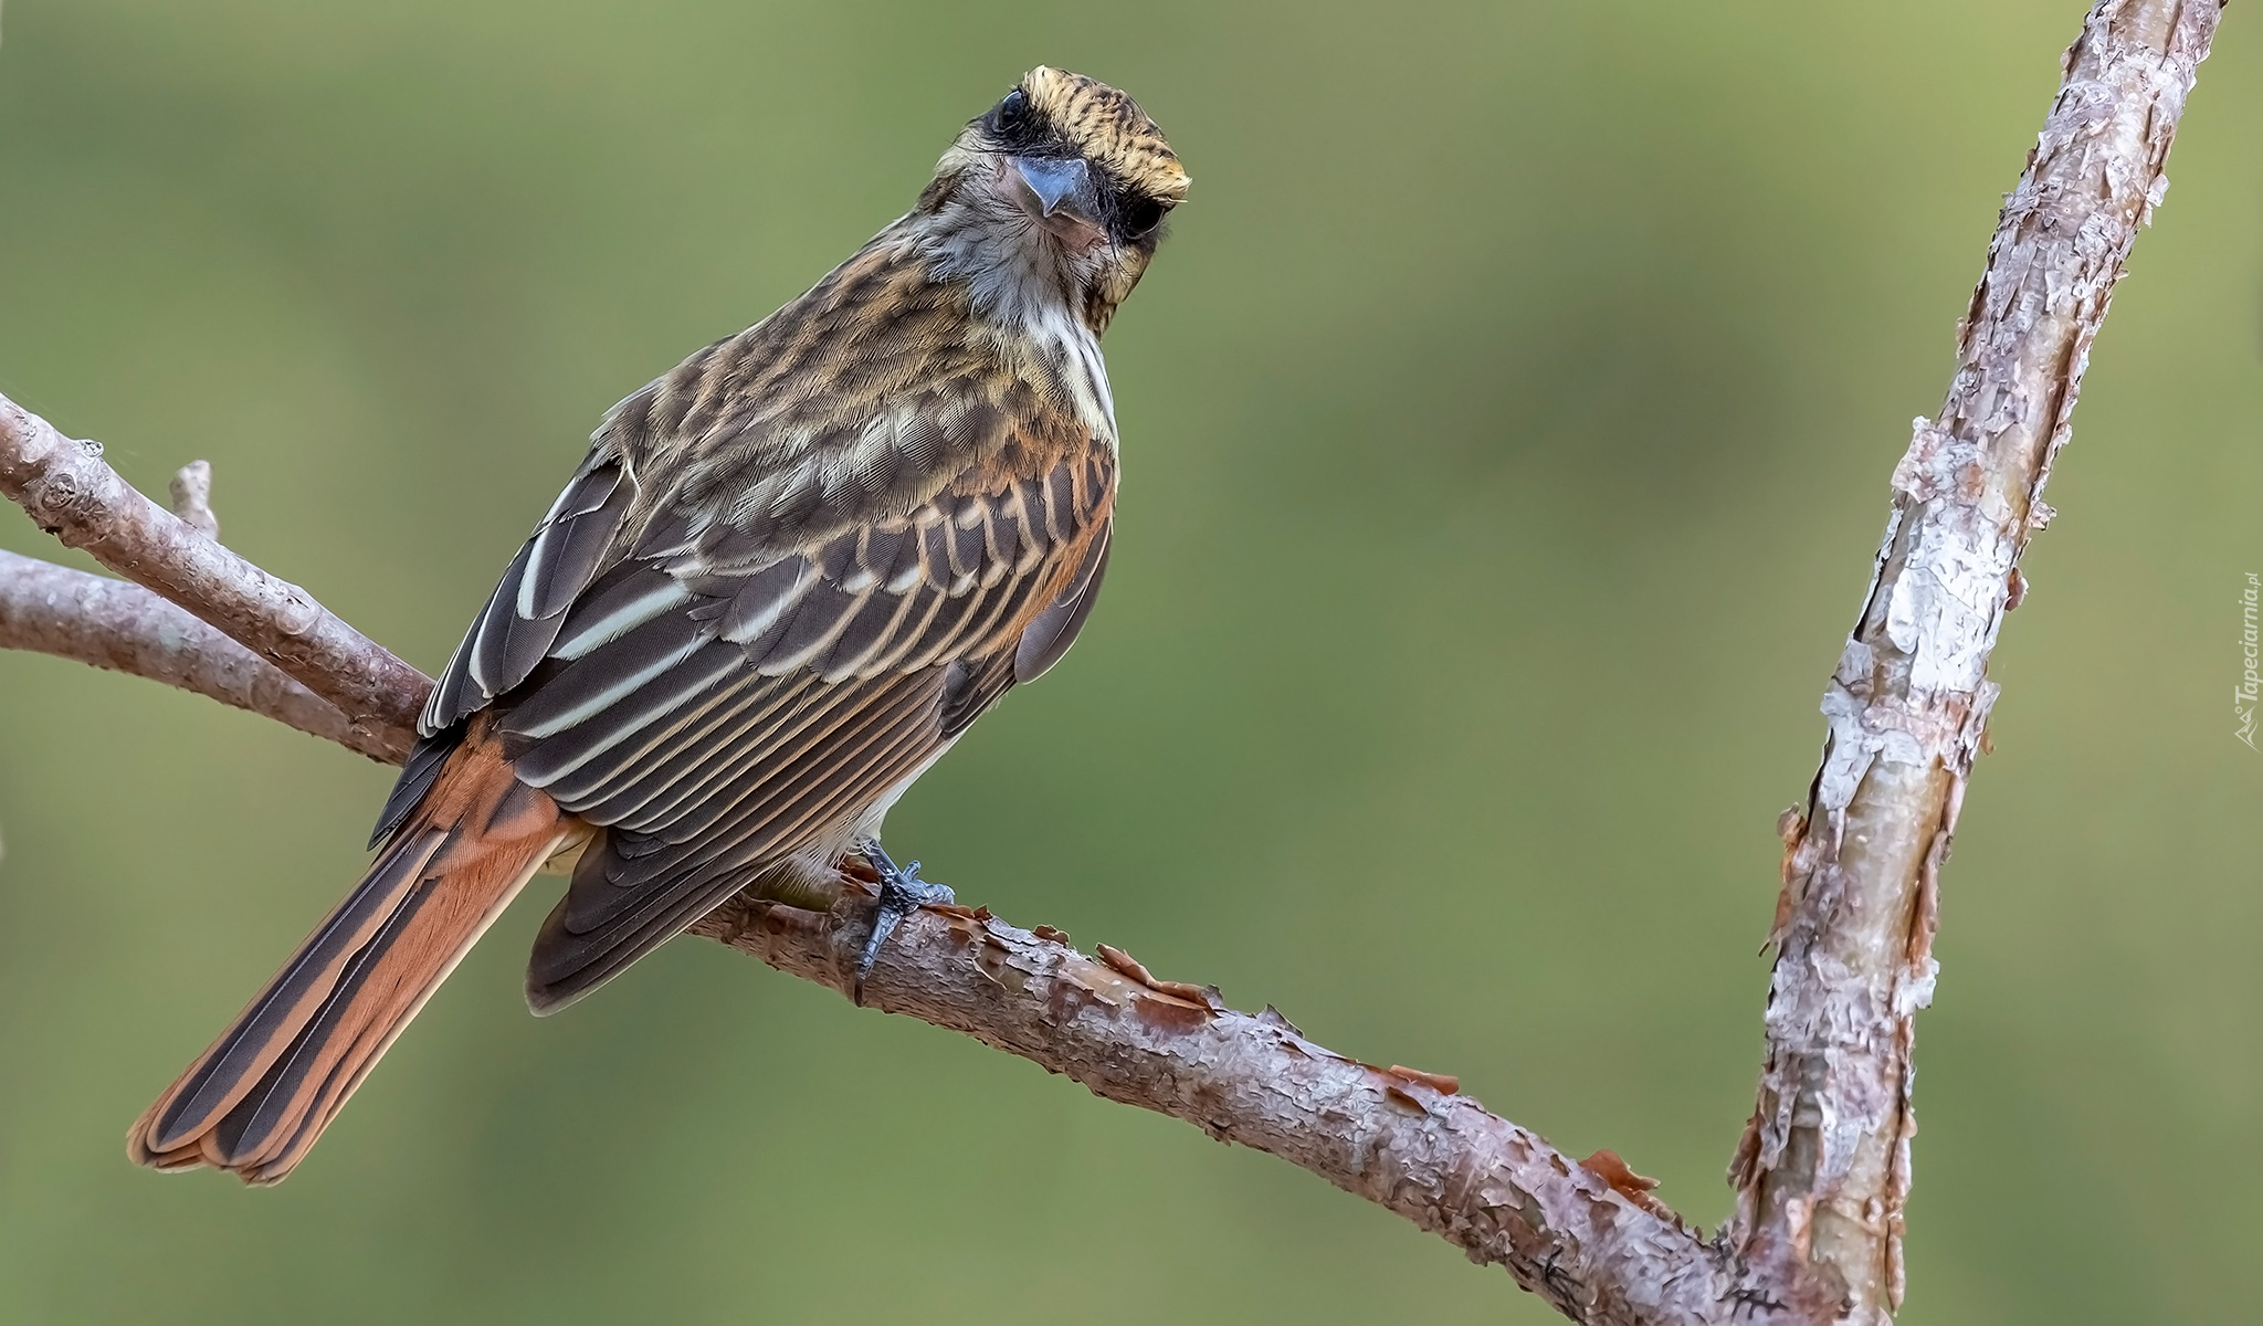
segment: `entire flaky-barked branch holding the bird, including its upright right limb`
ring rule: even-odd
[[[2043,482],[2220,9],[2091,9],[1989,242],[1948,398],[1894,468],[1824,695],[1822,769],[1781,824],[1767,1050],[1718,1238],[1611,1152],[1573,1161],[1451,1077],[1335,1054],[1270,1007],[1238,1014],[1215,989],[1156,980],[1104,944],[1079,953],[1043,925],[919,912],[862,1002],[1276,1154],[1507,1267],[1573,1321],[1890,1321],[1914,1014],[1933,996],[1939,871],[1996,699],[1987,656],[2019,606],[2019,557],[2050,518]],[[222,548],[208,466],[177,475],[165,511],[100,457],[0,398],[0,493],[136,582],[0,554],[0,647],[152,677],[380,760],[407,754],[430,679]],[[735,898],[692,930],[846,996],[871,894],[844,873],[831,910]]]

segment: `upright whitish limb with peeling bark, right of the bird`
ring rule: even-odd
[[[1731,1165],[1729,1242],[1885,1321],[1901,1306],[1910,1043],[1933,998],[1937,885],[1987,742],[1987,656],[2050,520],[2091,339],[2209,54],[2218,0],[2105,0],[1989,240],[1939,416],[1917,421],[1862,613],[1824,695],[1806,812],[1783,824],[1767,1054]],[[1783,1276],[1776,1276],[1783,1278]]]

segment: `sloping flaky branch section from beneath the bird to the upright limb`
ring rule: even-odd
[[[695,930],[846,996],[869,923],[864,889],[846,887],[831,912],[740,898]],[[1473,1263],[1507,1267],[1573,1321],[1790,1321],[1738,1312],[1720,1249],[1611,1174],[1437,1086],[1451,1079],[1346,1059],[1270,1007],[1238,1014],[1215,989],[1127,975],[1136,964],[1116,957],[1086,957],[1059,930],[935,907],[880,950],[864,1005],[1281,1156]]]

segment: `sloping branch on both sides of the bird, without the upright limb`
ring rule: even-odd
[[[34,480],[20,477],[27,473]],[[210,622],[120,582],[0,554],[0,647],[138,672],[387,763],[405,758],[407,720],[364,720],[346,735],[321,722],[344,724],[326,701],[349,690],[367,713],[412,717],[432,686],[421,672],[324,613],[335,622],[321,631],[333,652],[319,658],[337,672],[321,672],[328,663],[310,663],[310,652],[294,654],[294,674],[324,686],[292,690],[296,683],[244,645],[310,636],[287,629],[312,606],[306,591],[210,543],[102,464],[100,446],[63,439],[5,396],[0,484],[29,493],[18,500],[43,523],[77,532],[97,557],[111,550],[111,566],[147,575],[149,588],[170,586]],[[152,548],[174,561],[156,561]],[[869,928],[871,898],[844,887],[831,912],[735,898],[695,932],[846,996]],[[1727,1319],[1727,1258],[1647,1197],[1645,1181],[1616,1156],[1573,1161],[1457,1095],[1453,1079],[1346,1059],[1272,1009],[1231,1011],[1215,991],[1159,982],[1107,946],[1100,959],[1086,957],[1066,939],[987,912],[921,912],[880,950],[864,1002],[1276,1154],[1455,1242],[1471,1260],[1507,1267],[1575,1321]],[[1747,1310],[1743,1319],[1770,1315]]]

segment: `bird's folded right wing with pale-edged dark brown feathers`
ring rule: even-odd
[[[1111,498],[1093,453],[760,570],[600,579],[502,720],[518,776],[606,826],[530,998],[595,987],[837,835],[1057,658],[1098,591]]]

